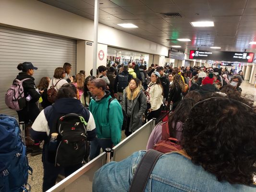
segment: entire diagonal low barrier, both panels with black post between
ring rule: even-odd
[[[70,176],[61,180],[59,183],[50,188],[47,192],[92,192],[92,182],[94,173],[103,165],[110,161],[122,161],[139,150],[146,150],[146,144],[150,133],[152,132],[155,120],[148,121],[145,125],[133,132],[129,137],[114,146],[108,148],[106,152],[85,164],[73,172]]]

